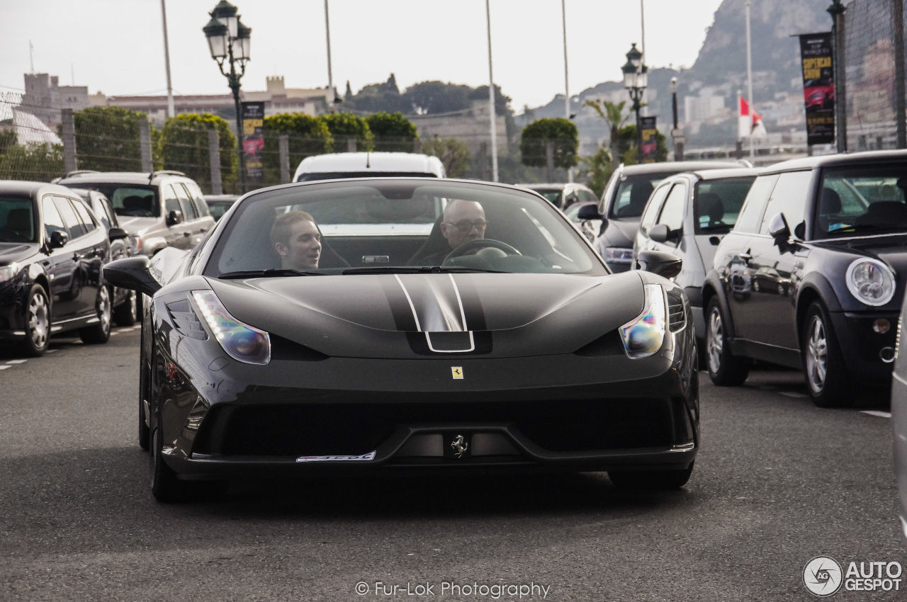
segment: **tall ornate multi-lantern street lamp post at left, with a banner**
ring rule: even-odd
[[[208,38],[211,58],[218,63],[222,73],[233,92],[233,104],[236,107],[237,149],[239,151],[239,178],[242,192],[246,192],[246,157],[242,148],[242,110],[239,104],[239,80],[246,74],[246,63],[249,61],[249,46],[252,30],[239,21],[236,6],[227,0],[220,0],[210,12],[211,20],[201,31]],[[225,70],[229,62],[229,72]],[[239,63],[239,73],[236,65]]]

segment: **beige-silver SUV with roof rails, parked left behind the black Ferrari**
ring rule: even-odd
[[[180,171],[76,171],[57,183],[101,191],[136,238],[134,251],[149,257],[162,248],[193,248],[214,227],[199,185]]]

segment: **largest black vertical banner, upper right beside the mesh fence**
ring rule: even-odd
[[[800,35],[806,143],[834,142],[834,65],[832,34]]]

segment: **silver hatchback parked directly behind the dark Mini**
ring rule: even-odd
[[[642,212],[633,242],[633,259],[641,251],[663,251],[683,259],[674,278],[693,308],[700,342],[706,333],[702,285],[712,269],[715,251],[736,223],[737,214],[759,170],[703,170],[670,176],[658,184]]]

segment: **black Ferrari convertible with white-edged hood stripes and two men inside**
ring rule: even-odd
[[[668,279],[679,260],[639,264],[610,274],[557,209],[511,186],[249,193],[191,252],[104,268],[151,297],[138,403],[151,490],[494,467],[680,487],[698,447],[693,319]]]

